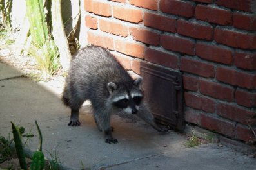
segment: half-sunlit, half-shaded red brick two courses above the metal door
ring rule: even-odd
[[[150,44],[158,46],[160,42],[160,35],[153,31],[146,30],[144,28],[131,27],[130,35],[132,35],[134,40],[144,42],[145,44]]]

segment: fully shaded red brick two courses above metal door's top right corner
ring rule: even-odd
[[[164,49],[185,53],[188,55],[195,55],[195,43],[188,38],[181,38],[175,35],[162,35],[160,44]]]

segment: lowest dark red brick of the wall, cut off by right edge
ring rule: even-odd
[[[236,126],[236,138],[243,140],[245,142],[250,142],[250,140],[255,139],[253,131],[256,132],[256,128],[253,128],[253,131],[248,126],[242,126],[241,124],[237,124]]]

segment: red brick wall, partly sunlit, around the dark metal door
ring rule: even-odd
[[[252,139],[256,0],[84,0],[84,10],[88,43],[127,70],[152,62],[184,72],[188,123]]]

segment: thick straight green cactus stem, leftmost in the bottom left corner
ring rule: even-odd
[[[21,141],[21,133],[19,128],[14,123],[12,123],[12,133],[14,135],[15,149],[17,157],[19,158],[19,165],[21,166],[21,169],[27,170],[28,167],[26,166],[25,154],[23,151],[23,144]]]

